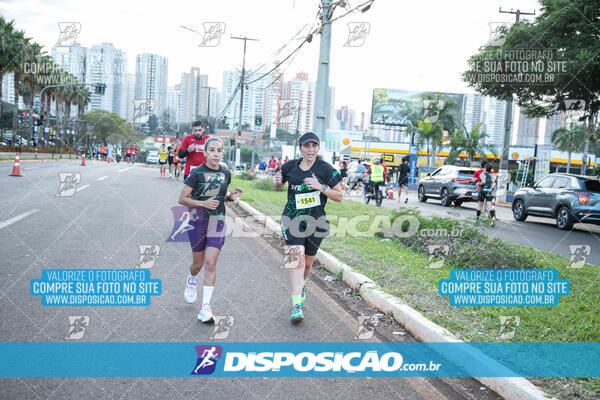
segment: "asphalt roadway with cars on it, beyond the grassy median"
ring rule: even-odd
[[[397,193],[397,192],[396,192]],[[363,201],[362,196],[346,197],[354,201]],[[404,195],[402,196],[404,201]],[[370,202],[370,204],[373,204]],[[375,207],[375,205],[373,205]],[[396,209],[399,207],[416,207],[424,216],[443,216],[457,219],[474,218],[476,203],[463,203],[461,207],[444,207],[437,199],[428,199],[421,203],[416,192],[409,193],[408,203],[399,203],[395,199],[384,199],[382,207]],[[600,226],[590,224],[575,224],[572,231],[563,231],[556,227],[552,218],[529,216],[525,221],[516,221],[512,210],[507,207],[496,207],[498,222],[495,227],[484,227],[486,234],[509,242],[534,247],[536,249],[571,256],[571,247],[590,246],[590,254],[586,262],[600,265]]]

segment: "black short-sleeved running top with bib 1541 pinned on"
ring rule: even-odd
[[[300,169],[300,160],[290,160],[283,164],[281,167],[282,182],[288,183],[288,199],[283,210],[283,216],[294,219],[299,215],[311,215],[314,218],[325,215],[327,196],[318,190],[311,189],[304,183],[304,179],[311,178],[313,174],[322,185],[327,185],[330,188],[342,181],[342,177],[337,170],[320,159],[316,159],[307,171]],[[317,197],[320,201],[315,201]],[[320,204],[311,207],[311,202]],[[304,204],[304,207],[299,209],[298,204]]]

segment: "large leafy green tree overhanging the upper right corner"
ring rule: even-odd
[[[598,30],[600,1],[540,0],[541,14],[533,22],[521,21],[504,33],[504,44],[483,46],[468,60],[463,79],[478,92],[503,100],[516,99],[528,116],[551,116],[565,111],[565,100],[583,100],[585,107],[579,122],[585,121],[584,157],[590,143],[600,136],[600,40]],[[483,82],[469,77],[477,74],[483,60],[510,61],[510,51],[544,49],[530,65],[560,61],[566,73],[552,73],[553,82]],[[550,53],[548,53],[548,51]],[[501,64],[501,65],[502,65]],[[557,64],[552,64],[557,66]]]

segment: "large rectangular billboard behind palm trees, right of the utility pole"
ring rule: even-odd
[[[410,126],[416,120],[437,122],[439,110],[450,107],[454,121],[462,122],[464,94],[373,89],[371,124]]]

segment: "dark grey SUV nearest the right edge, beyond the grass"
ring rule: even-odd
[[[513,216],[556,219],[560,229],[571,230],[576,222],[600,225],[600,176],[550,174],[531,187],[515,192]]]

